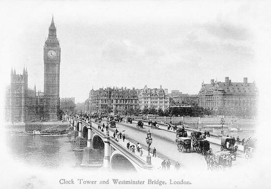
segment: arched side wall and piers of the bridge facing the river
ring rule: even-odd
[[[146,160],[110,137],[111,131],[101,131],[98,128],[100,124],[69,115],[66,115],[65,119],[70,124],[70,142],[76,142],[74,150],[84,151],[81,166],[131,171],[153,168],[152,165],[147,165]]]

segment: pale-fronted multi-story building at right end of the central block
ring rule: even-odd
[[[140,110],[154,108],[166,111],[169,108],[168,89],[162,89],[162,85],[159,89],[151,89],[145,85],[143,89],[138,91],[138,105]]]

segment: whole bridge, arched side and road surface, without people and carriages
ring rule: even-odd
[[[182,169],[191,169],[196,167],[197,170],[206,170],[206,161],[204,156],[196,153],[182,153],[177,150],[176,133],[167,130],[166,126],[160,124],[159,129],[151,129],[146,123],[143,128],[136,127],[136,121],[132,124],[125,122],[116,122],[116,128],[119,131],[125,130],[125,136],[128,141],[134,144],[139,143],[142,147],[142,157],[135,151],[132,152],[126,148],[121,140],[116,141],[111,136],[116,128],[110,128],[109,131],[101,131],[98,125],[103,123],[106,125],[106,120],[101,123],[91,122],[90,120],[80,119],[75,116],[66,116],[67,121],[70,122],[71,142],[76,142],[78,146],[75,150],[84,150],[82,166],[103,166],[109,170],[117,170],[119,167],[124,167],[125,170],[142,170],[142,169],[156,169],[161,170],[161,162],[170,160],[174,165],[177,161],[181,164]],[[160,128],[161,127],[161,128]],[[147,163],[146,133],[150,130],[152,137],[151,152],[153,148],[157,150],[157,157],[151,157],[151,166]],[[191,131],[187,130],[189,135]],[[213,152],[220,150],[220,140],[215,138],[208,138],[210,147]],[[241,150],[241,148],[239,149]],[[145,154],[144,154],[145,153]],[[150,154],[152,156],[152,154]],[[242,151],[237,151],[236,161],[233,161],[233,167],[239,167],[247,162]],[[171,167],[174,169],[174,166]]]

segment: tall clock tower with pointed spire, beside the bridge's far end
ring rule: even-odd
[[[52,17],[48,38],[44,45],[44,100],[45,119],[58,120],[60,46]]]

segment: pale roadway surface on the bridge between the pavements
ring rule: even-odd
[[[106,121],[103,120],[102,123],[106,125]],[[151,144],[151,152],[153,147],[156,148],[156,154],[175,164],[177,161],[181,164],[181,167],[184,169],[189,169],[190,167],[197,167],[198,170],[206,170],[207,165],[202,154],[193,152],[193,148],[191,148],[190,153],[179,152],[176,145],[176,134],[175,132],[170,132],[168,130],[163,129],[151,129],[151,127],[144,125],[143,128],[136,128],[135,123],[124,123],[124,122],[116,122],[116,128],[118,131],[125,130],[125,136],[128,140],[139,143],[144,149],[147,149],[146,144],[146,136],[148,130],[151,133],[152,144]],[[115,131],[116,128],[109,128],[111,131]],[[187,132],[190,135],[190,132]],[[220,146],[211,144],[210,148],[212,148],[213,153],[216,151],[220,151]],[[152,157],[154,158],[154,157]],[[240,164],[245,158],[241,153],[237,153],[236,161],[233,161],[232,165],[235,166]]]

